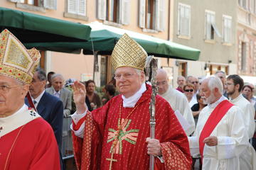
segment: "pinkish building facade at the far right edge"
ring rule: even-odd
[[[256,1],[238,0],[237,60],[238,74],[256,84]]]

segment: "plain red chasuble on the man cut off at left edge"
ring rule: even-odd
[[[1,170],[58,170],[57,142],[50,125],[36,118],[0,138]]]

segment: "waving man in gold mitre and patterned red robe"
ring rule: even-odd
[[[73,85],[73,145],[78,169],[149,169],[149,155],[158,169],[190,169],[186,133],[169,103],[156,96],[156,137],[150,139],[151,86],[145,83],[146,52],[124,34],[112,52],[120,95],[102,108],[87,111],[85,86]]]

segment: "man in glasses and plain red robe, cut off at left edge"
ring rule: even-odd
[[[52,128],[24,104],[40,53],[0,34],[0,169],[60,169]]]

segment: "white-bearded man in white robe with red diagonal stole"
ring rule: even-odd
[[[245,151],[249,140],[240,108],[223,95],[223,85],[218,77],[202,81],[200,93],[204,103],[193,137],[188,137],[191,154],[201,154],[203,169],[240,168],[239,155]]]

